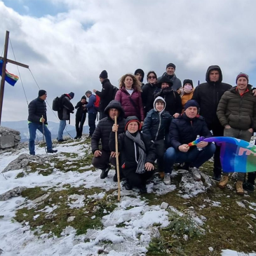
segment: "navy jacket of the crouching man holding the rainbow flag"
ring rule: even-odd
[[[178,150],[182,144],[189,144],[196,140],[196,136],[213,137],[208,130],[206,121],[203,116],[196,116],[194,119],[189,119],[186,114],[182,114],[177,119],[173,119],[170,123],[169,137],[170,147]]]

